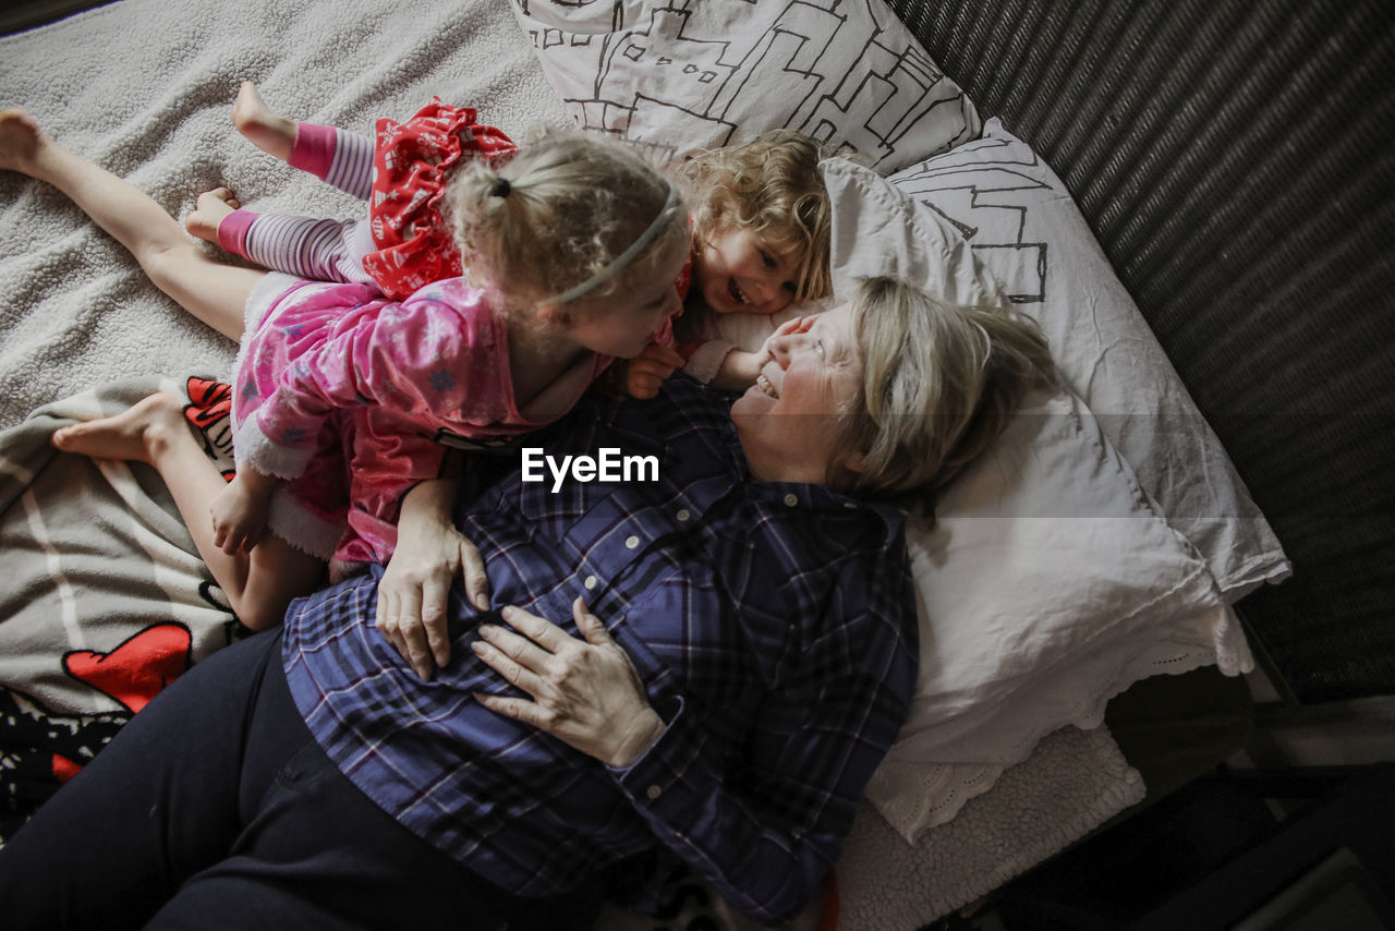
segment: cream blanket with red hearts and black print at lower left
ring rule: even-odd
[[[186,401],[230,475],[230,391],[206,378],[119,382],[0,433],[0,843],[165,685],[243,632],[152,470],[49,444],[56,427],[158,389]]]

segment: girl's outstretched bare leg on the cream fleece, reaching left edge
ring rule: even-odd
[[[127,181],[45,135],[22,110],[0,112],[0,169],[47,181],[131,251],[151,282],[205,324],[237,339],[262,272],[205,255],[179,222]]]

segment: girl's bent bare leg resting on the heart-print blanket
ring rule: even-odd
[[[226,484],[184,422],[174,395],[155,394],[114,417],[56,430],[53,445],[64,452],[155,466],[199,556],[247,627],[265,630],[280,624],[290,602],[318,585],[325,564],[280,537],[268,535],[250,554],[234,556],[213,543],[208,508]]]

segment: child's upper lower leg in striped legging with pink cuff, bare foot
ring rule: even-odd
[[[372,193],[372,140],[332,126],[290,120],[271,112],[251,81],[233,103],[233,126],[264,152],[361,201]]]

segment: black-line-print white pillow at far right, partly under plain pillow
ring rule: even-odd
[[[1060,179],[997,119],[893,176],[1036,318],[1067,384],[1235,603],[1289,561]]]

